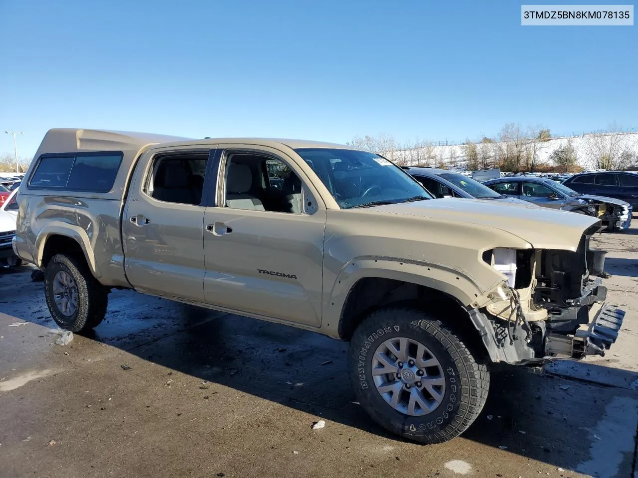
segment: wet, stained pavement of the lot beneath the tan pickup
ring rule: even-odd
[[[42,283],[0,271],[0,477],[636,477],[638,228],[596,242],[627,311],[611,351],[494,370],[470,430],[429,446],[353,402],[347,344],[115,291],[56,345]]]

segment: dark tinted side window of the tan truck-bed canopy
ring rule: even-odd
[[[121,152],[41,156],[29,187],[108,192],[122,163]]]

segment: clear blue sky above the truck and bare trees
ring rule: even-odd
[[[539,2],[543,3],[543,2]],[[562,2],[567,3],[567,2]],[[600,0],[598,0],[598,3]],[[0,0],[5,129],[343,143],[638,129],[638,25],[522,27],[514,1]]]

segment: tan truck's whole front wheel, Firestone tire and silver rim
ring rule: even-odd
[[[378,424],[410,440],[441,443],[467,430],[485,405],[483,357],[451,324],[388,307],[355,330],[350,377],[357,400]]]

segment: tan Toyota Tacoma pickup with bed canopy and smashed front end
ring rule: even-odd
[[[470,426],[490,363],[602,355],[624,315],[591,277],[598,219],[433,199],[341,145],[52,129],[18,203],[61,327],[124,288],[346,340],[362,407],[424,443]]]

